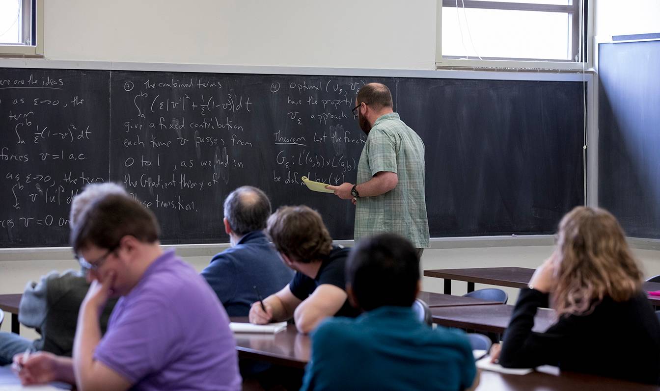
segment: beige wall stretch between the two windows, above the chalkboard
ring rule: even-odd
[[[45,1],[49,59],[434,69],[435,0]]]

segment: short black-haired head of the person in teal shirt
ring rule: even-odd
[[[411,307],[419,279],[413,245],[393,233],[362,239],[348,256],[346,283],[364,311],[385,305]]]

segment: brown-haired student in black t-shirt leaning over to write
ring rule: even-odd
[[[357,316],[345,291],[348,249],[333,246],[321,216],[307,206],[283,206],[268,219],[266,233],[286,266],[296,270],[281,291],[252,304],[249,321],[278,322],[291,317],[299,332],[312,331],[327,316]]]

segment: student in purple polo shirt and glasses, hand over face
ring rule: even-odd
[[[71,245],[89,280],[73,359],[15,357],[23,384],[53,380],[86,390],[240,390],[236,344],[211,287],[158,242],[152,212],[110,195],[83,212]],[[121,297],[101,337],[99,316]]]

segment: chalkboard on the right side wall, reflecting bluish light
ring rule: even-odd
[[[599,204],[660,239],[660,41],[599,45]]]

